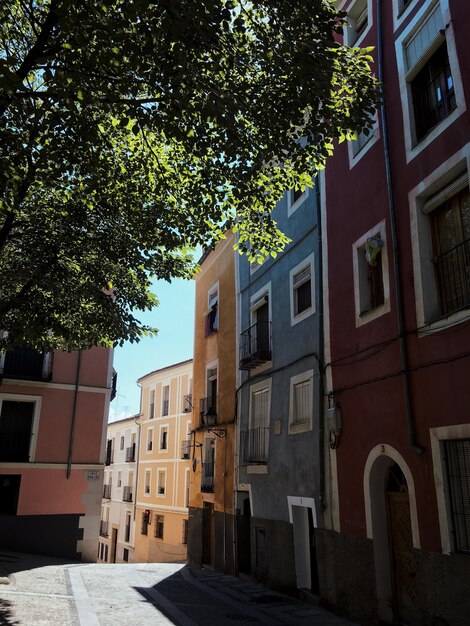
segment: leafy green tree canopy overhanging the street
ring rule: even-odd
[[[138,340],[151,277],[312,185],[377,101],[330,0],[2,0],[0,347]],[[255,252],[253,252],[255,251]]]

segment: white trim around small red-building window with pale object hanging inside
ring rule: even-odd
[[[382,279],[383,279],[383,291],[384,301],[383,304],[370,309],[369,311],[361,312],[361,283],[363,282],[363,276],[359,268],[359,252],[366,244],[366,241],[371,237],[380,235],[380,238],[384,242],[381,250],[382,259]],[[368,324],[372,320],[389,313],[390,311],[390,279],[388,270],[388,254],[387,254],[387,232],[385,228],[385,220],[379,222],[376,226],[371,228],[367,233],[362,235],[352,245],[353,256],[353,274],[354,274],[354,302],[356,310],[356,328]]]

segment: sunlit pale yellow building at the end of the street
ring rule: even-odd
[[[135,561],[186,560],[192,360],[139,378]]]

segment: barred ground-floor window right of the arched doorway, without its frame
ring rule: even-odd
[[[470,439],[444,444],[454,549],[470,554]]]

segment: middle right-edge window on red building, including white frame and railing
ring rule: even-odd
[[[470,144],[410,192],[418,327],[468,317],[469,159]]]

